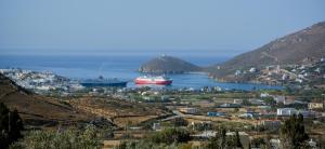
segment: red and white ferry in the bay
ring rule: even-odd
[[[138,77],[134,80],[134,83],[135,84],[170,85],[172,83],[172,79],[167,78],[165,76],[158,76],[158,77],[142,76],[142,77]]]

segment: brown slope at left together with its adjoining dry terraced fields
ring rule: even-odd
[[[114,121],[120,126],[130,121],[135,124],[169,114],[159,106],[110,97],[82,96],[63,101],[26,91],[2,73],[0,103],[4,103],[11,110],[17,109],[24,123],[29,126],[79,125],[94,120],[101,120],[100,122],[105,122],[106,125]]]

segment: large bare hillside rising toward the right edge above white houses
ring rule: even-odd
[[[210,76],[227,80],[236,70],[270,65],[303,64],[325,56],[325,22],[276,39],[255,51],[209,68]]]

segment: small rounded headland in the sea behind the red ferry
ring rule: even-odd
[[[139,71],[147,73],[183,73],[200,71],[202,68],[172,56],[159,56],[143,64]]]

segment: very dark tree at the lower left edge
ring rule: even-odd
[[[0,103],[0,148],[8,148],[21,138],[23,128],[23,120],[18,111],[10,111],[3,103]]]

